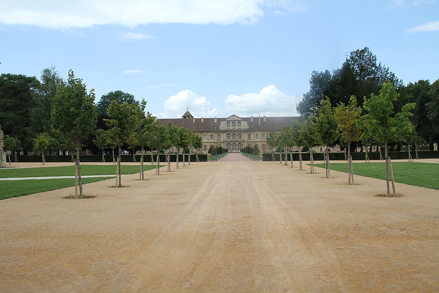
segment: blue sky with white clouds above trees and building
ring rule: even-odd
[[[368,47],[404,84],[439,78],[439,0],[2,0],[0,73],[69,69],[158,118],[298,116],[312,71]]]

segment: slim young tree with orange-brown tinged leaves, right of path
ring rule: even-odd
[[[346,142],[348,146],[348,184],[354,184],[354,172],[351,157],[351,143],[353,141],[359,141],[361,135],[361,126],[359,122],[361,121],[362,109],[357,107],[357,98],[352,95],[349,100],[348,106],[344,103],[340,103],[337,108],[335,108],[335,117],[337,118],[338,126],[340,127],[342,134],[342,141]]]

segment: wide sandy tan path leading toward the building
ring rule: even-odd
[[[439,191],[219,161],[0,201],[2,292],[434,292]]]

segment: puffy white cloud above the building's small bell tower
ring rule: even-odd
[[[206,97],[199,97],[189,89],[180,91],[165,100],[165,113],[159,113],[161,118],[174,117],[180,118],[185,114],[187,108],[194,117],[216,117],[218,110],[213,108]]]

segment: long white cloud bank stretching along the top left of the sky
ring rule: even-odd
[[[254,23],[266,0],[2,1],[0,23],[53,29],[148,23]]]

